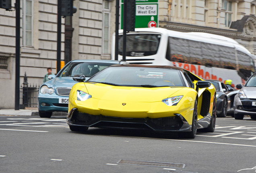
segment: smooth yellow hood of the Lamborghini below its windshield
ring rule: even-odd
[[[88,94],[95,99],[107,101],[155,102],[175,96],[183,87],[120,87],[107,84],[85,83]]]

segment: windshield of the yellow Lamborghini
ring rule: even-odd
[[[185,87],[180,70],[167,68],[111,66],[87,82],[133,87]]]

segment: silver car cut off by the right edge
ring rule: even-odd
[[[256,119],[256,73],[252,74],[246,84],[237,84],[239,93],[234,99],[235,119],[244,119],[244,115],[250,115],[251,119]]]

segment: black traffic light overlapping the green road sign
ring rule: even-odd
[[[136,0],[126,0],[126,31],[135,31]]]

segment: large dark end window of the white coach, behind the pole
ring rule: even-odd
[[[126,56],[149,56],[157,54],[161,34],[127,34]],[[119,36],[119,54],[123,55],[123,36]]]

